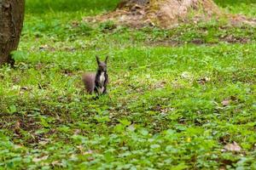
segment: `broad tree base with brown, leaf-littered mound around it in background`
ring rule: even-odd
[[[123,0],[117,8],[108,14],[86,20],[113,20],[128,26],[160,26],[170,28],[181,22],[197,22],[224,18],[231,24],[247,23],[254,25],[241,15],[224,14],[212,0]]]

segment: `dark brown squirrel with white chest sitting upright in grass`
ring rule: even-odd
[[[97,61],[97,71],[96,73],[86,72],[82,77],[84,82],[84,87],[89,94],[96,93],[97,95],[107,94],[108,85],[108,72],[107,72],[107,61],[108,56],[105,61],[100,61],[99,57],[96,55]]]

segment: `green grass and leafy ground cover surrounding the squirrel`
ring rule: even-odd
[[[256,16],[243,2],[222,6]],[[115,3],[26,1],[15,68],[0,68],[0,167],[255,169],[255,28],[82,21]],[[96,54],[111,57],[95,100],[80,77]]]

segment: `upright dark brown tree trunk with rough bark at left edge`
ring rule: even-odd
[[[14,64],[10,53],[18,47],[24,11],[25,0],[0,0],[0,65]]]

